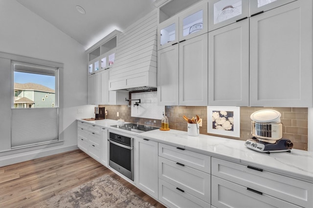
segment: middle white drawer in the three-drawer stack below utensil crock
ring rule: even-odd
[[[211,175],[159,157],[158,177],[175,187],[210,203]]]

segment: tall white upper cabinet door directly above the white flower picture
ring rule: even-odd
[[[249,19],[208,33],[208,105],[249,106]]]

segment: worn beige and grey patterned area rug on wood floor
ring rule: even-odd
[[[33,208],[154,208],[109,175],[96,178]]]

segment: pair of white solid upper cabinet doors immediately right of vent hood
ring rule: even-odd
[[[158,51],[158,104],[206,106],[207,34]]]

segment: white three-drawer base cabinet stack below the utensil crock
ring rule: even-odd
[[[169,207],[210,207],[208,155],[159,144],[158,199]]]

